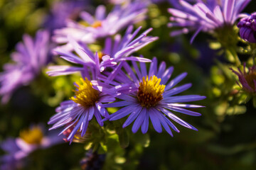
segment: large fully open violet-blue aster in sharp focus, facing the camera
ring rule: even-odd
[[[196,128],[178,118],[174,113],[183,113],[193,116],[201,115],[195,111],[188,111],[185,108],[201,108],[203,106],[186,104],[184,102],[200,101],[206,98],[205,96],[175,96],[191,87],[191,84],[176,86],[187,74],[180,74],[178,77],[169,81],[174,67],[166,69],[166,63],[161,62],[159,69],[157,69],[156,57],[154,57],[150,64],[149,72],[146,71],[146,65],[143,62],[140,63],[140,69],[135,62],[132,62],[132,64],[136,74],[134,74],[129,64],[124,62],[123,67],[128,76],[120,71],[114,78],[116,81],[112,84],[115,85],[114,89],[120,93],[117,98],[122,99],[122,101],[107,103],[104,104],[103,107],[123,108],[110,115],[108,120],[119,120],[129,115],[129,118],[127,118],[122,127],[125,128],[134,121],[132,126],[132,132],[134,133],[137,132],[140,127],[142,133],[146,133],[149,128],[149,118],[156,132],[162,132],[162,125],[171,136],[173,136],[173,134],[170,127],[176,132],[179,132],[179,130],[171,123],[170,119],[186,128],[196,130]],[[107,118],[105,118],[105,120],[107,120]]]

